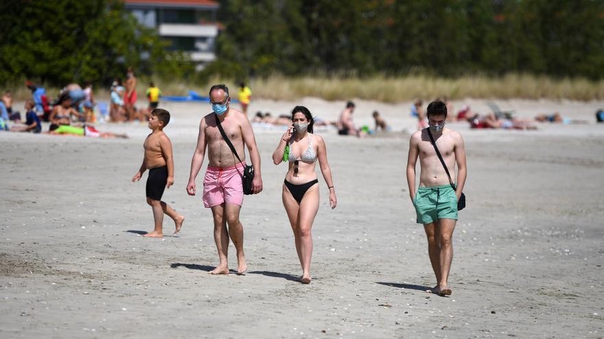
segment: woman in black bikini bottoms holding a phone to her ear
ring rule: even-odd
[[[288,173],[283,182],[283,206],[286,208],[294,239],[296,251],[302,266],[302,284],[310,284],[310,258],[312,256],[312,223],[318,210],[318,179],[314,172],[316,160],[329,189],[329,205],[332,209],[338,203],[332,170],[327,163],[325,142],[320,136],[312,134],[314,120],[310,111],[303,106],[296,106],[292,111],[292,126],[281,137],[272,161],[280,164],[289,161]],[[286,147],[288,152],[286,152]]]

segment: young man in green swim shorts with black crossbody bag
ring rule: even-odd
[[[428,127],[416,131],[409,141],[407,160],[407,184],[417,223],[423,224],[428,236],[428,255],[437,278],[437,286],[430,292],[451,294],[448,286],[449,271],[453,259],[452,235],[457,221],[457,200],[461,197],[467,169],[465,148],[461,134],[445,128],[447,106],[442,101],[428,105]],[[430,142],[428,130],[453,178],[457,165],[457,188],[450,185],[449,177],[437,152]],[[419,156],[419,188],[415,190],[415,163]]]

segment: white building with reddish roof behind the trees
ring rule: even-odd
[[[198,68],[216,59],[218,37],[216,12],[220,5],[212,0],[124,0],[140,23],[157,29],[162,39],[172,42],[170,51],[189,53]]]

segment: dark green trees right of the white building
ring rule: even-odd
[[[220,21],[205,77],[604,77],[601,0],[225,0]]]

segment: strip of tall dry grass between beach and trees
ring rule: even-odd
[[[237,83],[221,77],[209,79],[207,84],[188,84],[181,81],[156,81],[164,95],[187,95],[194,90],[200,95],[207,95],[211,84],[224,83],[235,95]],[[139,99],[148,85],[148,79],[142,78],[137,86]],[[415,98],[432,99],[443,95],[450,99],[572,99],[589,101],[604,99],[604,80],[588,79],[554,79],[535,75],[511,74],[500,78],[480,75],[458,77],[455,79],[410,75],[406,77],[375,76],[327,77],[305,76],[284,77],[271,75],[266,78],[253,79],[250,86],[254,97],[264,99],[295,100],[302,97],[320,97],[326,100],[368,99],[396,103]],[[30,97],[25,86],[5,86],[12,89],[15,99]],[[48,88],[47,92],[54,97],[58,88]],[[108,98],[108,88],[95,88],[95,95]]]

